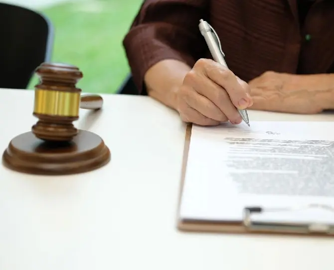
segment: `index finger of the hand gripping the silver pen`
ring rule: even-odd
[[[238,79],[228,68],[210,59],[200,59],[194,65],[194,70],[202,71],[207,78],[224,88],[236,108],[245,109],[251,106],[248,84]],[[219,96],[219,93],[215,94]]]

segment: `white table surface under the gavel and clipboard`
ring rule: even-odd
[[[103,97],[103,110],[81,110],[75,125],[104,139],[112,153],[107,166],[62,177],[1,166],[0,270],[333,270],[334,239],[178,232],[185,125],[149,97]],[[33,91],[0,89],[0,105],[4,150],[37,120]]]

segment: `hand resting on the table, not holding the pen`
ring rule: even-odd
[[[319,83],[312,75],[267,71],[249,83],[253,105],[250,109],[315,114],[323,110]]]

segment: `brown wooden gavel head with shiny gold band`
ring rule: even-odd
[[[83,77],[75,66],[61,63],[42,63],[35,73],[33,115],[38,122],[32,126],[34,135],[45,141],[70,141],[78,130],[72,124],[79,118],[81,89],[76,83]]]

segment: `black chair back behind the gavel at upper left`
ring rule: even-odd
[[[53,27],[41,13],[0,3],[0,88],[27,88],[34,70],[49,62]]]

